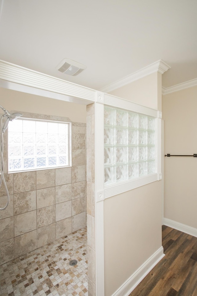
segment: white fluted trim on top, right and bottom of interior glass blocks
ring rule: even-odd
[[[149,183],[158,181],[162,179],[161,174],[161,117],[162,113],[158,110],[151,109],[142,105],[138,105],[136,103],[121,99],[119,97],[114,97],[109,94],[104,94],[104,104],[110,107],[116,107],[120,109],[124,109],[126,111],[132,111],[136,113],[141,113],[147,116],[151,116],[157,118],[156,126],[155,126],[155,162],[157,173],[146,175],[143,177],[138,177],[134,179],[130,179],[127,181],[121,181],[117,183],[113,183],[110,185],[104,185],[104,199],[112,197],[114,195],[121,194],[123,192],[135,189],[137,187],[147,185]],[[101,116],[101,114],[100,114]]]

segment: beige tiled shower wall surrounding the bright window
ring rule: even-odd
[[[72,167],[5,179],[10,203],[0,211],[0,265],[86,226],[86,124],[72,123]]]

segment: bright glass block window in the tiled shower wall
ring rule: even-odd
[[[69,123],[16,119],[8,126],[8,171],[69,166]]]

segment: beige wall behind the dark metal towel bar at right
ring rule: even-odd
[[[197,153],[197,87],[163,96],[165,154]],[[165,157],[164,218],[197,228],[197,158]]]

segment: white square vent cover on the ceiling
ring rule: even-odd
[[[85,65],[82,65],[78,62],[69,59],[63,59],[56,67],[56,69],[62,73],[77,76],[84,69],[86,69]]]

